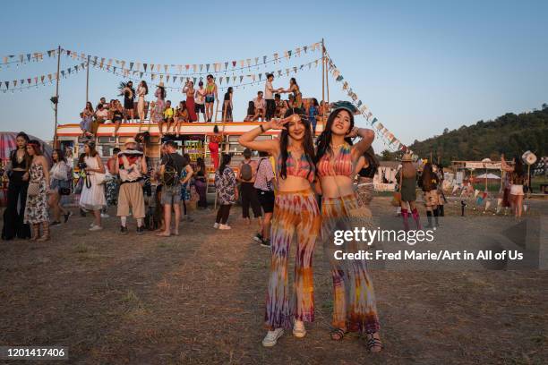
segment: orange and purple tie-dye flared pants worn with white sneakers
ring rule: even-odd
[[[293,320],[314,320],[313,252],[321,218],[313,191],[278,191],[270,229],[272,259],[265,325],[290,328]],[[289,289],[287,259],[296,235],[295,275]]]

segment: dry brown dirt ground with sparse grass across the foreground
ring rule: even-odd
[[[390,215],[387,199],[374,212]],[[316,321],[304,339],[261,346],[270,250],[231,214],[212,228],[194,212],[179,237],[89,233],[90,218],[53,228],[54,240],[0,243],[0,344],[64,344],[64,363],[529,364],[548,361],[548,272],[372,269],[386,346],[329,339],[331,284],[315,252]],[[499,222],[504,217],[493,217]],[[458,235],[474,219],[452,227]],[[464,226],[463,226],[464,224]],[[498,229],[493,223],[489,229]],[[476,229],[476,227],[474,228]],[[456,231],[456,232],[455,232]],[[290,270],[291,271],[291,270]]]

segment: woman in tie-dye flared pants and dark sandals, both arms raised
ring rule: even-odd
[[[333,279],[333,320],[331,339],[342,340],[348,331],[357,331],[367,337],[367,347],[372,352],[382,349],[379,336],[379,319],[374,299],[371,277],[364,260],[335,259],[335,250],[357,252],[363,242],[350,241],[336,246],[335,230],[352,230],[352,218],[366,225],[364,209],[361,213],[352,186],[355,165],[369,149],[374,133],[354,126],[355,107],[348,102],[335,103],[325,129],[318,137],[316,169],[320,177],[321,238],[329,255]],[[352,138],[361,140],[354,146]],[[371,229],[372,226],[365,228]]]

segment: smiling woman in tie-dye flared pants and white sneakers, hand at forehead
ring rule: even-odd
[[[281,129],[278,140],[255,140],[270,129]],[[287,110],[282,120],[263,123],[240,137],[248,149],[269,152],[277,161],[278,191],[270,228],[272,259],[266,300],[264,346],[277,343],[284,328],[304,337],[304,322],[314,319],[313,251],[320,234],[320,212],[312,188],[315,177],[311,126],[304,111]],[[296,235],[293,290],[289,291],[287,256]]]

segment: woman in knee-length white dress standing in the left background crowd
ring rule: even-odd
[[[90,231],[100,231],[101,209],[107,206],[105,199],[105,166],[95,149],[95,142],[88,141],[84,145],[85,166],[79,166],[86,172],[86,179],[81,189],[80,207],[92,210],[95,221],[90,226]]]

